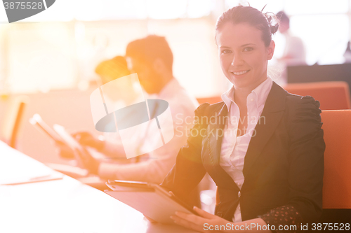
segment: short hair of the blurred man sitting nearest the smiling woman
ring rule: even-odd
[[[126,57],[133,57],[146,64],[152,64],[159,58],[170,71],[173,70],[173,53],[164,36],[150,35],[128,43]]]

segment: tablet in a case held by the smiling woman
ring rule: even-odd
[[[180,199],[154,183],[133,181],[108,181],[112,190],[105,192],[119,201],[140,211],[158,223],[175,224],[170,216],[176,211],[197,213]]]

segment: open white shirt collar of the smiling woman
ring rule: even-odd
[[[252,90],[252,92],[249,94],[249,96],[247,97],[248,100],[251,98],[254,98],[256,100],[256,107],[258,108],[258,106],[264,105],[265,101],[268,97],[268,94],[270,93],[270,89],[272,88],[272,78],[270,78],[269,76],[267,76],[267,79],[264,80],[262,83],[260,83],[260,85],[258,85],[258,87],[256,87],[254,90]],[[225,103],[225,105],[227,106],[227,109],[230,109],[230,104],[234,101],[234,85],[232,87],[230,87],[229,90],[227,90],[226,92],[224,92],[222,94],[222,99]],[[248,101],[247,100],[247,101]],[[247,103],[246,101],[246,103]]]

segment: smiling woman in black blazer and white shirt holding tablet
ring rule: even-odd
[[[171,218],[179,225],[199,232],[296,232],[322,213],[319,102],[289,94],[267,78],[278,28],[272,21],[250,6],[218,18],[220,65],[233,86],[223,102],[197,108],[187,145],[161,185],[185,197],[208,172],[220,203],[216,216],[196,208],[199,216],[176,213]]]

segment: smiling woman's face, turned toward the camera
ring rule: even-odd
[[[259,29],[227,22],[217,31],[216,40],[220,66],[234,87],[253,90],[267,78],[267,61],[273,57],[274,41],[266,47]]]

